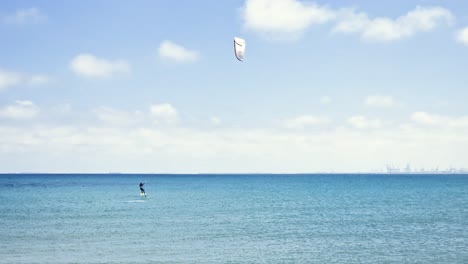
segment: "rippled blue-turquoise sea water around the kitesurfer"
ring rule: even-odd
[[[468,175],[4,174],[0,263],[468,263]]]

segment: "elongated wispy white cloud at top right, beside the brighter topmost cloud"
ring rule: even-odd
[[[417,7],[396,19],[370,19],[366,13],[347,11],[340,15],[333,32],[356,33],[366,40],[395,41],[431,31],[439,25],[450,25],[453,19],[452,13],[442,7]]]

